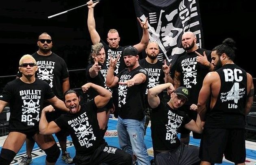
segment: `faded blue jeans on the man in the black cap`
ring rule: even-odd
[[[147,147],[144,143],[144,123],[118,116],[117,134],[120,147],[137,157],[138,165],[150,165]]]

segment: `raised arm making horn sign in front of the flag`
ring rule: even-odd
[[[141,42],[139,42],[138,44],[134,45],[133,47],[135,47],[138,52],[142,52],[147,48],[148,42],[149,42],[149,33],[148,33],[148,18],[146,18],[145,21],[141,21],[138,17],[137,17],[138,22],[141,25],[141,28],[143,30],[143,34],[141,37]]]

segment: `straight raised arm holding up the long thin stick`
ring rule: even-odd
[[[88,7],[87,26],[88,26],[88,30],[89,30],[89,33],[90,33],[90,36],[91,36],[91,42],[93,44],[97,44],[98,42],[100,42],[100,35],[96,31],[95,19],[94,19],[94,14],[93,14],[93,10],[94,10],[93,8],[98,3],[99,2],[93,3],[92,0],[87,2],[87,7]]]

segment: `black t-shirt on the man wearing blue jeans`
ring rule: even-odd
[[[141,66],[138,66],[130,72],[128,69],[122,70],[117,77],[119,78],[119,82],[125,82],[138,73],[146,75],[147,78],[144,83],[132,87],[127,87],[126,85],[118,86],[118,107],[121,118],[142,120],[145,116],[143,111],[145,109],[145,91],[148,85],[147,71]]]

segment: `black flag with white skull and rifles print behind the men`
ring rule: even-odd
[[[181,45],[183,32],[191,31],[197,37],[197,46],[203,46],[202,23],[198,0],[133,0],[137,17],[148,17],[150,41],[158,43],[158,59],[166,59],[174,66],[185,51]],[[139,27],[141,30],[141,28]],[[140,37],[142,31],[140,32]],[[172,68],[174,69],[174,68]],[[172,71],[173,72],[173,71]]]

